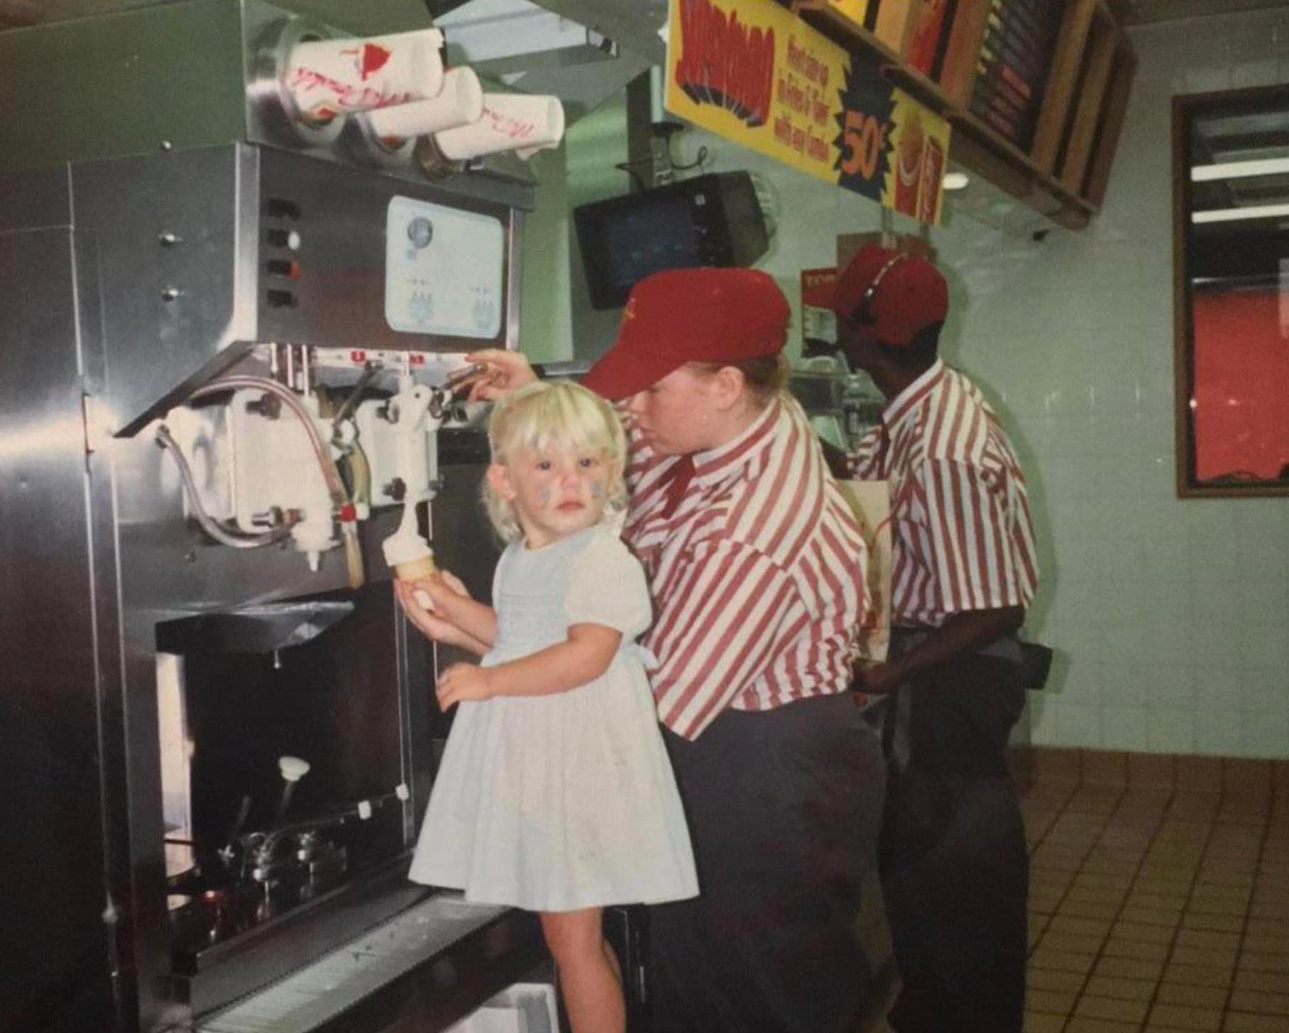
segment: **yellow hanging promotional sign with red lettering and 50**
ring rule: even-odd
[[[668,111],[919,222],[940,222],[944,118],[773,0],[670,4]]]

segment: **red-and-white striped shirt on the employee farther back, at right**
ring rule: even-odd
[[[1038,583],[1025,477],[980,389],[940,359],[896,395],[851,456],[891,482],[891,621],[1029,605]]]

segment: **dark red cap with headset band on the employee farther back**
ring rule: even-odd
[[[838,316],[853,318],[857,309],[866,317],[861,318],[865,332],[883,344],[907,344],[918,331],[945,321],[949,285],[926,259],[866,243],[842,270],[833,292]]]

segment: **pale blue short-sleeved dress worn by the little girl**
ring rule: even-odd
[[[608,670],[549,696],[458,705],[410,877],[528,911],[697,894],[693,854],[635,636],[651,621],[639,563],[607,528],[501,555],[485,666],[623,632]]]

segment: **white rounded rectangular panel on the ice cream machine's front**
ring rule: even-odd
[[[500,219],[412,197],[385,215],[385,322],[406,334],[491,340],[504,312]]]

